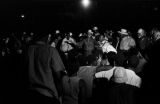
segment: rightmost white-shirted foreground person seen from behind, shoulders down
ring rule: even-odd
[[[110,82],[110,104],[137,104],[136,91],[141,86],[141,78],[132,69],[116,67]]]

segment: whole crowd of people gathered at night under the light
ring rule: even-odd
[[[56,30],[37,35],[24,32],[21,38],[11,34],[0,40],[2,63],[11,63],[3,66],[13,71],[12,84],[17,82],[16,89],[23,89],[19,96],[28,103],[158,101],[160,30],[156,28],[150,32],[140,28],[136,34],[127,29],[102,33],[95,26],[77,36]],[[20,61],[14,62],[18,58]],[[13,62],[16,74],[11,70]],[[6,79],[4,85],[9,86],[6,82],[11,79]],[[11,92],[13,97],[17,91]]]

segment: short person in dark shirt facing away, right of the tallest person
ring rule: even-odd
[[[70,64],[66,76],[63,77],[62,104],[85,104],[86,84],[77,76],[78,61]]]

